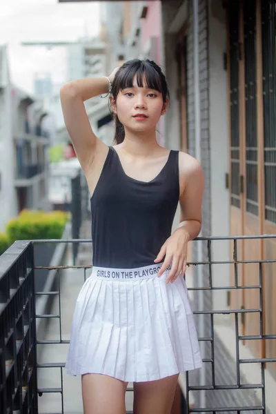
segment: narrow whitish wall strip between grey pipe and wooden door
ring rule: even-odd
[[[209,0],[209,77],[210,77],[210,179],[211,228],[213,236],[229,235],[229,192],[225,188],[228,172],[228,103],[226,15],[220,0]],[[228,242],[213,242],[213,260],[229,258]],[[213,265],[214,286],[229,286],[229,266]],[[227,308],[226,291],[213,292],[213,308]]]

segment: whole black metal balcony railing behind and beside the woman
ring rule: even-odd
[[[190,288],[194,294],[202,294],[205,291],[231,291],[237,292],[239,290],[251,289],[257,290],[259,302],[258,306],[252,307],[242,306],[242,308],[224,308],[214,311],[213,307],[208,309],[195,308],[195,318],[210,317],[210,335],[208,337],[200,337],[199,342],[201,346],[208,346],[210,353],[208,357],[204,357],[204,364],[209,371],[210,382],[206,384],[200,383],[195,385],[190,381],[190,373],[186,373],[186,400],[187,407],[190,405],[190,393],[213,392],[219,391],[235,391],[242,390],[244,393],[259,390],[261,397],[259,400],[255,399],[251,405],[237,404],[235,396],[231,396],[228,405],[217,404],[217,406],[193,406],[193,408],[185,408],[184,413],[262,413],[268,414],[266,405],[266,382],[265,373],[269,364],[276,362],[275,357],[253,357],[245,359],[241,357],[240,345],[246,341],[273,341],[276,335],[266,333],[264,328],[264,265],[273,264],[276,262],[276,257],[270,259],[255,260],[237,260],[238,246],[244,240],[259,240],[260,242],[268,242],[268,239],[273,239],[275,242],[276,235],[264,236],[244,236],[244,237],[201,237],[193,241],[201,241],[206,243],[208,249],[208,259],[204,262],[191,262],[188,266],[208,266],[208,286],[198,286]],[[213,260],[211,250],[215,242],[228,241],[233,244],[233,257],[229,260],[217,261]],[[271,241],[273,241],[271,240]],[[83,274],[83,282],[88,277],[88,269],[92,267],[90,264],[85,266],[63,265],[63,266],[42,266],[49,271],[57,271],[58,282],[55,284],[55,290],[49,292],[37,292],[34,290],[34,270],[40,269],[41,266],[34,266],[33,259],[33,245],[43,244],[45,240],[38,240],[34,242],[15,242],[7,251],[0,257],[0,411],[3,414],[10,414],[12,412],[18,413],[38,413],[37,395],[59,393],[61,395],[61,413],[64,413],[64,390],[63,390],[63,368],[64,361],[59,362],[37,362],[37,345],[63,346],[69,344],[69,339],[63,337],[61,330],[61,320],[66,318],[62,314],[61,309],[61,295],[62,288],[60,283],[61,270],[79,269]],[[70,239],[70,240],[47,240],[47,243],[91,243],[88,239]],[[241,266],[255,266],[257,265],[257,273],[259,282],[257,284],[241,284],[239,282],[239,272]],[[213,284],[213,266],[233,266],[233,284],[229,286],[215,286]],[[226,267],[225,267],[226,268]],[[271,270],[271,269],[270,269]],[[66,279],[66,273],[64,274]],[[55,296],[58,298],[58,313],[35,313],[35,295]],[[271,310],[272,311],[272,310]],[[258,335],[246,335],[240,330],[239,318],[241,315],[255,314],[259,319],[259,333]],[[235,336],[235,370],[236,381],[233,384],[218,384],[217,383],[217,361],[215,355],[216,335],[214,328],[215,315],[232,315],[233,316],[233,336]],[[48,319],[48,321],[58,321],[59,335],[51,339],[37,339],[35,329],[35,319]],[[276,352],[275,352],[276,353]],[[260,381],[257,384],[251,384],[242,380],[242,366],[244,364],[259,364],[261,368]],[[58,368],[60,370],[60,386],[56,388],[45,387],[39,388],[37,385],[37,369]],[[132,391],[128,388],[128,391]],[[246,394],[244,394],[246,395]],[[198,404],[197,404],[198,405]]]

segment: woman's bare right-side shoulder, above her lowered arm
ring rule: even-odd
[[[195,183],[195,181],[197,181],[197,184],[200,181],[201,183],[204,182],[204,172],[201,164],[186,152],[179,151],[179,184],[181,192],[188,183]]]

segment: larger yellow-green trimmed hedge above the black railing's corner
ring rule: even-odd
[[[8,222],[6,233],[11,244],[15,240],[60,239],[67,220],[68,213],[63,211],[23,210]]]

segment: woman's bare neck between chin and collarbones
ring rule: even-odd
[[[146,132],[132,132],[126,129],[125,131],[125,139],[119,145],[131,155],[152,155],[152,152],[160,147],[156,140],[155,128]]]

